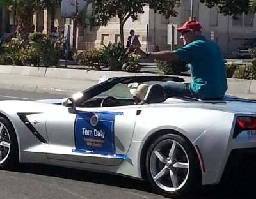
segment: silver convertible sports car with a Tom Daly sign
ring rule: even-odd
[[[166,99],[170,76],[115,77],[71,98],[0,101],[0,168],[18,162],[145,179],[180,198],[256,157],[256,102]],[[150,85],[134,105],[129,89]],[[237,164],[236,164],[237,165]]]

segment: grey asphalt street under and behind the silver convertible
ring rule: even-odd
[[[0,89],[0,100],[65,98],[63,95],[40,94]],[[255,165],[237,170],[235,178],[222,186],[209,186],[196,199],[255,198]],[[49,165],[19,164],[14,170],[0,170],[0,199],[154,199],[147,182],[116,175],[86,172]],[[190,198],[189,198],[190,199]]]

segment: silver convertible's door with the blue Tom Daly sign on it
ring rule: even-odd
[[[119,165],[127,159],[138,106],[77,108],[47,115],[52,164]]]

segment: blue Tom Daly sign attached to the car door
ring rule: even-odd
[[[116,112],[81,112],[76,116],[74,152],[115,154]]]

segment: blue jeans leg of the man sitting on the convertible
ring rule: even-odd
[[[168,81],[164,82],[163,89],[166,98],[171,98],[173,96],[195,97],[194,92],[190,88],[190,83]]]

